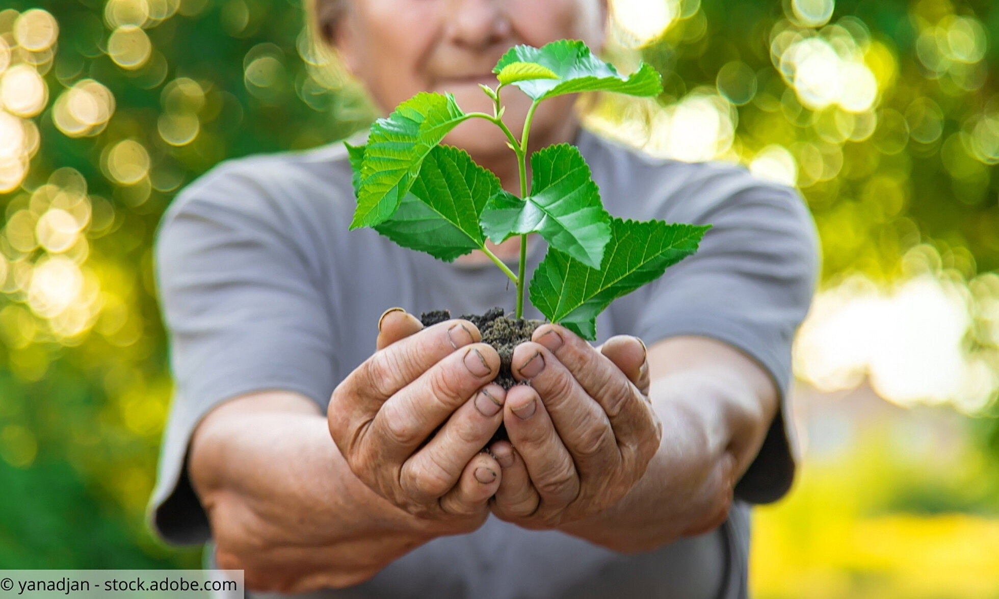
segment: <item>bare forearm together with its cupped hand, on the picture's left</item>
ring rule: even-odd
[[[447,332],[456,323],[465,325],[459,334],[452,331],[458,349],[447,342]],[[465,331],[468,342],[461,344],[458,335]],[[334,394],[342,410],[338,417],[331,409],[331,417],[324,418],[312,400],[290,392],[237,398],[206,415],[193,435],[189,469],[211,523],[219,566],[245,570],[247,586],[254,590],[302,593],[342,588],[371,578],[431,539],[478,528],[500,486],[499,464],[480,450],[502,419],[501,406],[480,403],[476,408],[476,400],[485,397],[476,391],[482,381],[493,378],[500,362],[491,347],[472,343],[478,335],[467,321],[423,330],[413,316],[390,313],[380,326],[376,352],[380,357],[366,362]],[[491,374],[477,378],[463,373],[461,359],[473,348],[482,354]],[[441,357],[432,361],[434,356]],[[363,387],[361,377],[381,376],[381,365],[395,363],[407,365],[407,373],[422,369],[422,374],[412,376],[387,400],[375,400],[374,389],[382,387],[362,389],[357,396],[346,393],[348,384]],[[391,381],[386,378],[378,384]],[[453,393],[446,394],[445,389]],[[487,390],[502,403],[501,387],[490,385]],[[465,401],[460,400],[462,394]],[[385,456],[399,455],[395,453],[399,444],[380,442],[375,434],[380,429],[374,425],[376,418],[381,422],[390,415],[382,414],[386,406],[400,400],[408,402],[408,411],[393,414],[413,417],[393,422],[390,430],[398,431],[399,424],[405,430],[426,430],[422,442],[437,427],[435,419],[438,424],[447,419],[447,424],[419,451],[410,450],[405,458],[390,462]],[[495,415],[484,415],[479,411],[483,408]],[[375,414],[361,416],[365,409]],[[355,424],[356,419],[361,419],[360,424]],[[330,438],[335,422],[356,431],[349,437],[353,445],[345,444],[355,448],[350,466]],[[490,482],[476,478],[480,468],[490,474],[486,477]],[[365,482],[356,472],[366,475]],[[429,499],[411,498],[402,488],[404,480],[407,489]],[[396,499],[385,499],[377,490],[380,484],[394,490]]]

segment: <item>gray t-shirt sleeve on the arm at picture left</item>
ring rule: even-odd
[[[310,261],[308,228],[292,198],[278,201],[260,183],[287,175],[249,167],[224,165],[185,189],[157,233],[176,386],[148,517],[170,543],[210,537],[188,478],[187,449],[213,407],[264,390],[301,393],[322,407],[334,386],[332,319]]]

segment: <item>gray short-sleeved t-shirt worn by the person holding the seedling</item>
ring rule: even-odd
[[[794,470],[786,397],[791,339],[818,271],[814,224],[794,190],[742,168],[654,159],[583,129],[575,142],[611,214],[713,225],[696,255],[598,317],[597,342],[615,334],[648,345],[711,337],[754,358],[779,387],[783,408],[736,486],[728,520],[657,551],[623,555],[491,517],[472,534],[418,547],[357,587],[308,596],[745,596],[748,505],[782,496]],[[513,290],[493,264],[447,264],[370,229],[349,232],[354,208],[346,151],[335,143],[225,162],[184,189],[164,216],[156,259],[176,393],[150,519],[166,541],[210,539],[186,452],[212,407],[284,389],[325,411],[336,385],[371,355],[375,325],[392,306],[415,314],[512,310]],[[537,241],[528,273],[543,256]],[[529,306],[525,315],[541,318]]]

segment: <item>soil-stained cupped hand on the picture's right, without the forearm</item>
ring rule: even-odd
[[[595,516],[626,495],[659,448],[648,400],[648,362],[635,337],[594,348],[545,324],[513,351],[529,385],[506,393],[509,442],[491,446],[502,467],[492,500],[500,519],[532,529]]]

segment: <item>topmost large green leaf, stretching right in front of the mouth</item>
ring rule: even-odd
[[[501,73],[509,65],[535,63],[547,68],[557,79],[529,79],[512,82],[533,100],[585,91],[608,91],[631,96],[656,96],[662,93],[662,79],[651,65],[641,63],[627,77],[613,65],[593,56],[578,40],[558,40],[540,48],[513,46],[493,69]]]

